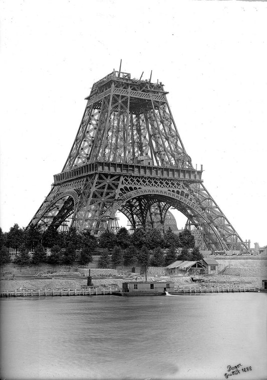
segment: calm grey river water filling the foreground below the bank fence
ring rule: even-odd
[[[0,304],[1,378],[222,379],[228,365],[231,380],[267,378],[266,294]]]

